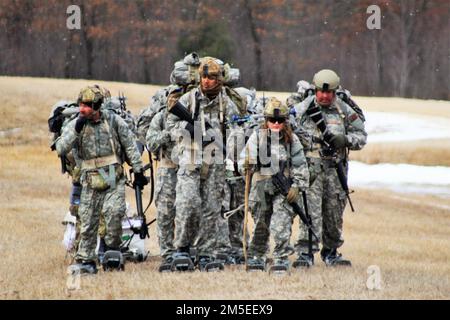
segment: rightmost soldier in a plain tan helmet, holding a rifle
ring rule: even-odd
[[[296,133],[305,148],[310,170],[309,213],[313,230],[323,241],[321,257],[326,265],[350,264],[337,252],[344,243],[342,225],[347,199],[337,176],[336,164],[342,163],[347,174],[348,149],[360,150],[367,139],[358,114],[336,97],[339,82],[338,75],[332,70],[316,73],[313,79],[315,96],[295,106]],[[326,128],[326,131],[322,132],[320,128]],[[307,234],[306,228],[301,226],[296,246],[298,266],[314,263],[313,257],[307,254]],[[319,243],[314,239],[313,251],[318,250]]]

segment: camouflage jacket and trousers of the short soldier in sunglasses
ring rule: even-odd
[[[268,135],[271,137],[269,146],[267,146]],[[293,135],[293,141],[285,145],[280,137],[281,135],[267,129],[259,129],[250,136],[239,160],[239,169],[244,173],[247,151],[250,163],[256,166],[258,154],[261,155],[261,147],[266,145],[267,148],[270,148],[270,163],[266,167],[256,166],[255,168],[249,199],[255,221],[249,256],[258,259],[265,258],[269,249],[270,234],[275,241],[273,252],[275,259],[285,259],[293,253],[289,239],[295,214],[286,198],[275,188],[271,179],[272,175],[280,170],[278,165],[280,161],[290,162],[287,170],[292,179],[292,187],[305,190],[309,184],[308,166],[299,139]],[[260,160],[260,162],[262,161]],[[284,174],[286,175],[286,170]]]

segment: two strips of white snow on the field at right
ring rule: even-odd
[[[404,113],[367,112],[368,143],[449,139],[450,120]],[[450,167],[350,163],[349,186],[450,198]]]

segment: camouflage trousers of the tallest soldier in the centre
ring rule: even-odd
[[[221,211],[224,167],[180,165],[177,173],[175,248],[196,246],[199,255],[213,255]],[[219,191],[218,191],[219,190]]]

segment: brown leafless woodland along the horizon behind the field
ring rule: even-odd
[[[195,51],[257,90],[293,92],[330,68],[355,95],[450,100],[449,21],[448,0],[5,0],[0,74],[166,85]]]

